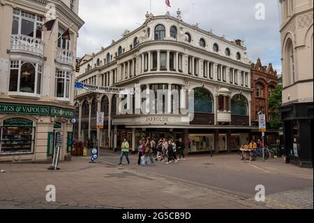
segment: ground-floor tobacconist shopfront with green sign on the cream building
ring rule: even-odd
[[[71,108],[0,102],[0,161],[50,161],[61,135],[61,160],[72,150]]]

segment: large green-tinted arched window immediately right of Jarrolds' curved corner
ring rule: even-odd
[[[194,100],[195,113],[214,113],[214,98],[207,89],[195,88]]]

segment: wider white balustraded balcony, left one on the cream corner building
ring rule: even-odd
[[[28,52],[43,56],[43,41],[40,38],[33,38],[25,35],[11,36],[11,52]]]

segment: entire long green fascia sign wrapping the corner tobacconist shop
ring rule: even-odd
[[[57,117],[74,117],[74,110],[54,106],[33,106],[25,104],[0,103],[0,113],[51,115]]]

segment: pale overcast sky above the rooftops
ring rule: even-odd
[[[281,73],[281,38],[278,0],[170,0],[169,11],[176,16],[182,11],[184,22],[213,29],[218,36],[232,41],[244,38],[248,57],[264,66],[272,63]],[[264,3],[265,20],[255,19],[255,5]],[[149,11],[149,0],[80,0],[80,17],[85,24],[80,30],[77,57],[98,52],[121,38],[124,30],[140,27]],[[151,0],[151,13],[165,15],[165,0]]]

